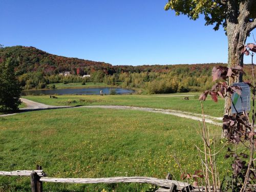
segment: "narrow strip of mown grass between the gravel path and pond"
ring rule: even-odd
[[[190,93],[191,94],[191,93]],[[174,96],[175,95],[175,96]],[[164,95],[58,95],[58,99],[49,96],[24,96],[24,98],[50,105],[130,105],[148,108],[172,109],[185,112],[201,114],[201,104],[198,100],[199,93],[189,96],[184,100],[186,94],[164,94]],[[224,99],[216,103],[210,97],[203,102],[205,114],[214,117],[223,115]]]

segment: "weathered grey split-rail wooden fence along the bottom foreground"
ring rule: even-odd
[[[160,188],[158,192],[170,191],[205,191],[204,187],[192,187],[190,184],[181,181],[169,180],[169,174],[165,179],[152,177],[111,177],[111,178],[50,178],[37,165],[35,170],[15,170],[13,172],[0,172],[0,176],[26,176],[30,177],[31,191],[42,192],[43,182],[54,183],[148,183],[157,185]],[[218,190],[219,191],[219,190]]]

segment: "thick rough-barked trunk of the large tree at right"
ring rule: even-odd
[[[239,4],[237,1],[226,1],[226,33],[228,37],[228,67],[240,65],[243,67],[244,54],[241,49],[244,47],[247,36],[256,24],[256,20],[249,21],[249,14],[253,0],[246,0]],[[242,74],[237,78],[229,78],[228,84],[242,82]],[[230,96],[230,95],[229,95]],[[225,98],[224,115],[231,115],[231,98]]]

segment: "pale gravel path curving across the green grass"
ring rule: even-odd
[[[121,106],[121,105],[55,106],[55,105],[38,103],[38,102],[31,101],[29,99],[24,99],[24,98],[21,98],[20,100],[22,100],[22,102],[24,102],[27,106],[26,108],[21,108],[19,113],[36,111],[36,110],[60,109],[60,108],[103,108],[103,109],[138,110],[138,111],[147,111],[147,112],[153,112],[153,113],[163,113],[163,114],[175,115],[175,116],[183,117],[187,119],[193,119],[197,121],[202,121],[202,118],[203,118],[201,114],[196,114],[196,113],[183,112],[183,111],[177,111],[177,110],[141,108],[138,106]],[[5,117],[5,116],[15,115],[15,114],[17,113],[0,115],[0,117]],[[222,125],[222,123],[220,122],[221,120],[222,120],[221,117],[211,117],[211,116],[205,115],[205,122],[207,123]]]

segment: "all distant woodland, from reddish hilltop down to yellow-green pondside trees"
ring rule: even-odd
[[[110,63],[96,62],[49,54],[34,47],[6,47],[0,49],[0,62],[7,55],[19,57],[20,84],[24,89],[50,88],[51,83],[104,82],[119,84],[125,88],[136,88],[148,93],[176,93],[210,89],[211,70],[224,63],[194,65],[143,65],[112,66]],[[69,71],[71,75],[62,76]],[[250,79],[250,66],[245,65],[244,79]],[[89,78],[81,75],[90,74]]]

